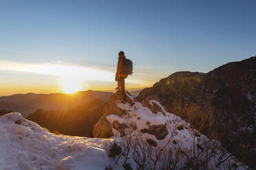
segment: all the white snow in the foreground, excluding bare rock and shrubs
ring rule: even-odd
[[[131,101],[134,101],[133,97],[129,97]],[[149,108],[143,107],[140,102],[122,104],[117,101],[116,104],[122,110],[127,110],[128,114],[123,117],[116,114],[107,116],[106,119],[112,125],[114,121],[126,125],[135,123],[136,132],[149,130],[152,125],[165,125],[167,127],[168,134],[161,139],[148,132],[141,134],[144,140],[150,138],[156,141],[158,145],[155,147],[156,149],[163,147],[170,139],[170,148],[173,151],[181,147],[187,153],[191,151],[192,146],[201,145],[200,140],[202,139],[208,140],[209,143],[213,142],[203,134],[193,130],[189,123],[186,123],[180,117],[165,111],[156,100],[149,101],[151,106],[156,104],[161,108],[162,112],[158,111],[156,114],[151,112]],[[112,127],[112,132],[116,136],[120,136],[120,132],[114,127]],[[120,137],[102,139],[52,134],[38,124],[24,119],[18,112],[12,112],[0,117],[0,169],[94,170],[105,169],[109,166],[112,169],[123,169],[122,164],[115,165],[114,160],[108,156],[111,143],[118,141],[119,145],[123,147],[122,140]],[[202,145],[202,147],[205,146]],[[197,148],[195,151],[198,152],[199,149]],[[235,161],[233,156],[229,157],[229,155],[227,153],[223,157],[227,158],[225,161],[229,165],[236,163],[237,169],[243,169],[242,164]],[[202,156],[205,156],[205,154],[202,154]],[[209,169],[228,169],[228,164],[225,163],[216,167],[215,161],[218,158],[220,157],[211,158],[208,164]],[[185,158],[182,158],[183,162],[184,160]],[[180,164],[182,164],[182,161],[180,161]],[[129,160],[129,164],[133,169],[136,169],[136,163],[133,160]]]

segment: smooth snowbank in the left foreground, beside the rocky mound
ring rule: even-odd
[[[56,135],[18,112],[0,117],[0,169],[105,169],[112,139]],[[119,167],[116,167],[119,168]]]

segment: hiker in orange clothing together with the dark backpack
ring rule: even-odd
[[[115,80],[118,82],[118,87],[116,89],[120,90],[122,94],[122,103],[127,101],[125,93],[125,78],[132,73],[132,69],[133,66],[131,60],[125,57],[124,51],[120,51],[118,53],[118,65]]]

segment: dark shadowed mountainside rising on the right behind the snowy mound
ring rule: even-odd
[[[220,141],[231,154],[255,167],[256,56],[209,73],[173,73],[143,89],[136,100],[143,103],[149,97],[195,126],[204,122],[202,132],[221,134]]]

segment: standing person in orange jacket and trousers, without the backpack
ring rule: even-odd
[[[125,71],[125,53],[120,51],[118,53],[118,65],[116,69],[116,82],[118,82],[118,87],[116,89],[121,90],[122,92],[122,103],[126,102],[125,94],[125,78],[128,76],[128,73]]]

